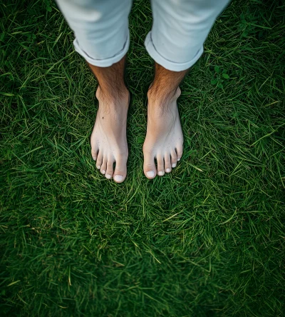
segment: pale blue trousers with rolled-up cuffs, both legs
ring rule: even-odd
[[[128,15],[132,0],[57,0],[76,39],[73,44],[91,65],[108,67],[130,45]],[[229,0],[151,0],[153,24],[145,48],[170,71],[189,69]],[[144,8],[142,7],[143,11]]]

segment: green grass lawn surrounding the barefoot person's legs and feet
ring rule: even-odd
[[[97,84],[56,5],[0,4],[1,316],[284,316],[284,3],[217,19],[181,86],[182,161],[150,181],[135,1],[122,184],[90,156]]]

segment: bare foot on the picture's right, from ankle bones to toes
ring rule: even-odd
[[[183,134],[177,109],[180,94],[179,87],[174,95],[163,99],[151,91],[147,93],[147,135],[143,144],[143,170],[147,178],[170,173],[182,156]]]

